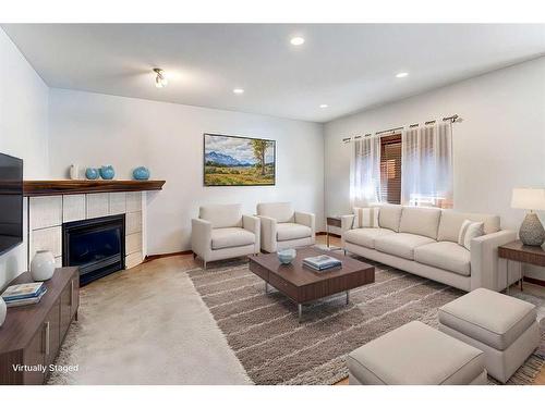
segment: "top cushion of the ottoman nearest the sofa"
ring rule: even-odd
[[[535,306],[483,287],[439,308],[439,322],[497,350],[535,322]]]

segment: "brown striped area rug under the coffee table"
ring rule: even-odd
[[[264,282],[246,263],[187,274],[229,346],[256,384],[335,384],[348,376],[347,355],[412,320],[437,327],[437,309],[463,292],[375,263],[375,283],[303,309]],[[542,322],[543,323],[543,322]],[[511,378],[530,384],[545,360],[542,346]],[[495,382],[489,379],[491,384]]]

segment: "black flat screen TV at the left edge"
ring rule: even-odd
[[[0,153],[0,255],[23,242],[23,160]]]

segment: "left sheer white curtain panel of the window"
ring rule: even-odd
[[[350,205],[364,207],[380,198],[380,138],[365,136],[352,143]]]

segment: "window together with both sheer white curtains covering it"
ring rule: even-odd
[[[351,205],[380,201],[452,208],[452,163],[451,122],[360,137],[350,166]]]

